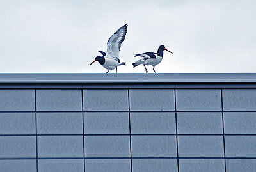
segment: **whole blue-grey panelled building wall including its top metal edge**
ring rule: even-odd
[[[256,74],[0,74],[0,171],[256,171]]]

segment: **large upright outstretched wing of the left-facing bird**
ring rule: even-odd
[[[125,24],[124,26],[120,27],[108,40],[108,49],[107,49],[107,56],[108,58],[113,58],[115,60],[119,60],[119,52],[122,42],[124,41],[124,38],[127,33],[127,26],[128,24]]]

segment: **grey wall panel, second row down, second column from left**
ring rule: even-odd
[[[38,134],[83,134],[82,113],[37,113]]]

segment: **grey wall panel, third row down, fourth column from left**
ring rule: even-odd
[[[132,136],[132,157],[176,157],[175,136]]]

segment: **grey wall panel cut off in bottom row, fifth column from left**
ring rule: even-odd
[[[180,159],[180,172],[225,172],[224,159]]]

